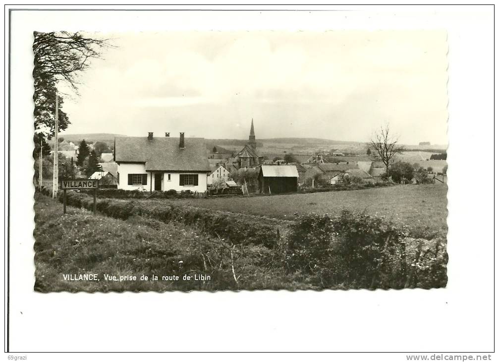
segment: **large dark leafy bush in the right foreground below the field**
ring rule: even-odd
[[[445,243],[432,244],[363,212],[311,214],[292,227],[284,265],[288,272],[313,275],[323,288],[444,287]]]

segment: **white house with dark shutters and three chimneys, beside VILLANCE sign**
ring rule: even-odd
[[[118,188],[206,192],[210,173],[204,138],[115,137]]]

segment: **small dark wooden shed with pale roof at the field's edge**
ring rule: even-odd
[[[296,192],[298,170],[294,165],[262,165],[258,173],[258,189],[262,194]]]

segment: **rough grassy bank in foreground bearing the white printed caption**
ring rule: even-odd
[[[285,274],[273,251],[232,246],[195,227],[140,216],[123,221],[74,207],[64,215],[60,203],[40,194],[35,195],[34,209],[38,292],[314,288]],[[95,274],[98,280],[67,280],[67,275],[80,274]]]

